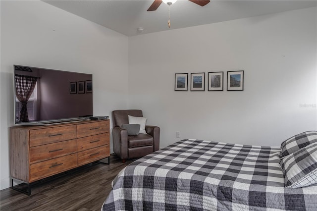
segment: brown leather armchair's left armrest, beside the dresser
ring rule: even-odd
[[[112,141],[114,153],[121,159],[128,158],[128,131],[121,127],[112,128]]]

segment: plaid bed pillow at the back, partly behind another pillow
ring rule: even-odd
[[[281,155],[280,158],[288,156],[299,149],[306,147],[310,144],[317,142],[317,131],[306,131],[297,134],[281,144]]]

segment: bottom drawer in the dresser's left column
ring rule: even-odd
[[[30,165],[30,182],[52,176],[54,174],[76,167],[76,153],[59,158],[53,158]]]

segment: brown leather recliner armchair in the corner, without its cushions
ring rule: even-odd
[[[113,151],[122,159],[141,158],[159,150],[159,127],[145,125],[145,133],[128,135],[128,130],[123,129],[129,123],[129,117],[143,117],[142,110],[113,110],[112,140]]]

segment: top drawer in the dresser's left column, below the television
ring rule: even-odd
[[[76,139],[76,125],[30,130],[30,147]]]

